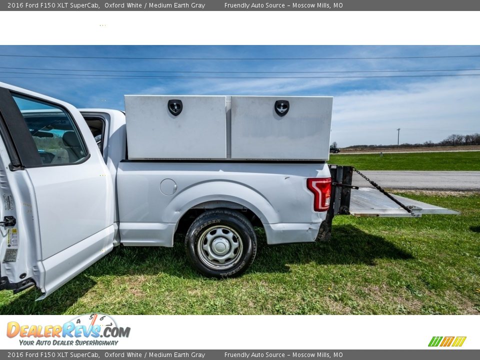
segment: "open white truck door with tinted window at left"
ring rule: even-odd
[[[44,298],[113,247],[113,189],[72,105],[0,83],[0,289]]]

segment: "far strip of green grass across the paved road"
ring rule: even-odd
[[[352,165],[359,170],[480,170],[480,151],[411,152],[359,155],[330,154],[332,164]]]

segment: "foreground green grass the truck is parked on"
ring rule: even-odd
[[[118,247],[45,300],[0,292],[2,314],[479,314],[480,195],[423,196],[459,216],[337,216],[329,242],[268,246],[213,280],[173,249]]]

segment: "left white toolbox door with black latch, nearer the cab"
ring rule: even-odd
[[[225,96],[125,95],[129,159],[225,159]]]

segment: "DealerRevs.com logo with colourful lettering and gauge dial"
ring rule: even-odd
[[[130,327],[117,326],[108,315],[84,314],[62,325],[7,323],[6,335],[19,337],[20,345],[117,345],[117,338],[128,337]]]

